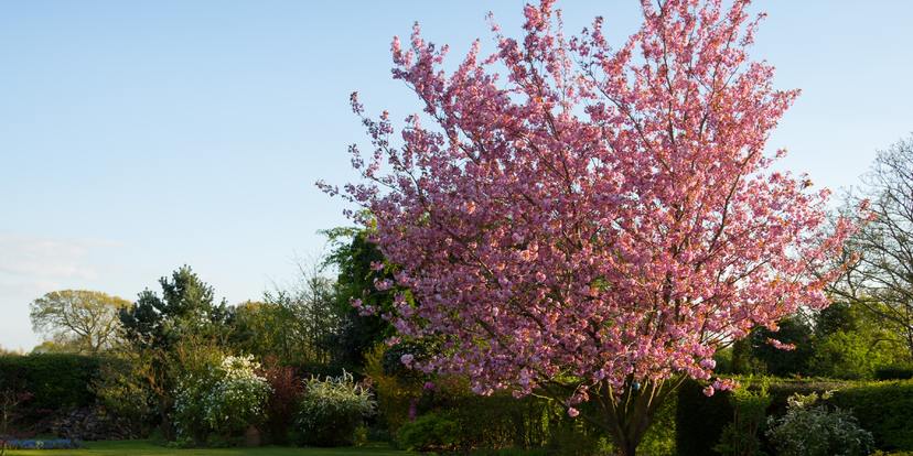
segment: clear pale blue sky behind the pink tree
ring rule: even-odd
[[[562,1],[616,42],[636,0]],[[219,296],[257,298],[318,254],[342,203],[358,90],[397,119],[389,79],[412,21],[459,58],[485,13],[516,34],[523,1],[6,1],[0,4],[0,345],[39,341],[29,302],[63,287],[133,300],[191,264]],[[755,55],[804,95],[770,145],[831,188],[913,131],[913,2],[759,1]]]

